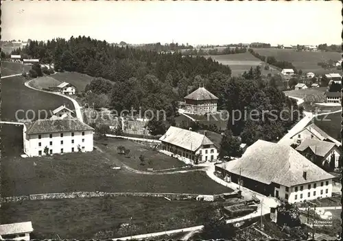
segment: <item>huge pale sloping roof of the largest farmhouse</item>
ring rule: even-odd
[[[264,140],[248,147],[241,158],[217,166],[261,183],[287,187],[333,178],[292,147]],[[303,177],[304,171],[307,179]]]

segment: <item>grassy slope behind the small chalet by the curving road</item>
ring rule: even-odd
[[[76,90],[83,91],[87,84],[91,83],[93,77],[76,72],[58,72],[51,75],[54,79],[62,82],[68,82],[76,87]]]

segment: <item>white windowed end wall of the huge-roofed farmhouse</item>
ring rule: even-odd
[[[326,183],[327,181],[328,184]],[[316,188],[314,188],[315,183]],[[323,183],[323,186],[321,186],[321,183]],[[308,185],[311,185],[310,189]],[[300,186],[303,186],[303,190],[300,190]],[[296,188],[298,188],[297,191]],[[318,198],[330,197],[332,195],[332,179],[292,186],[289,188],[289,191],[291,191],[288,199],[289,203],[299,203],[300,201],[303,202],[305,200],[309,201]],[[314,194],[314,192],[316,192],[316,194]]]

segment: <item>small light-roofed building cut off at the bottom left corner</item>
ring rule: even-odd
[[[29,240],[29,234],[32,231],[34,229],[31,222],[0,225],[0,240]]]

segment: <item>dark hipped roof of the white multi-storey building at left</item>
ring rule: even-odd
[[[46,134],[67,131],[88,131],[94,130],[76,118],[65,118],[58,120],[38,120],[32,124],[27,124],[27,134]]]

